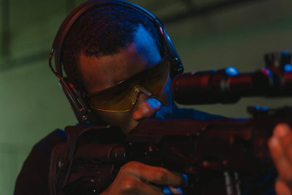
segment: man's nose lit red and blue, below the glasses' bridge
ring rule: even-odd
[[[149,97],[144,92],[139,92],[136,105],[134,106],[133,119],[141,120],[152,118],[156,112],[162,107],[160,101],[155,98]]]

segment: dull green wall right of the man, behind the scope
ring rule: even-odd
[[[185,72],[236,67],[248,72],[263,67],[263,55],[292,51],[292,1],[263,1],[171,25],[169,34]],[[192,107],[228,117],[249,116],[248,105],[291,105],[288,98],[244,98],[237,104]]]

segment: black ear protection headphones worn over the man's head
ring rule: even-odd
[[[96,123],[96,120],[98,119],[98,116],[96,116],[92,111],[91,107],[88,106],[88,103],[86,102],[84,96],[82,94],[79,94],[79,92],[75,89],[74,85],[72,83],[69,83],[65,77],[63,77],[62,72],[62,62],[61,62],[61,54],[62,54],[62,48],[65,42],[65,38],[67,35],[67,32],[69,31],[70,27],[74,23],[77,18],[82,15],[85,11],[88,9],[95,7],[95,6],[101,6],[101,5],[122,5],[127,6],[130,8],[133,8],[141,13],[143,13],[146,17],[150,18],[154,24],[157,26],[157,28],[161,32],[161,37],[163,40],[163,44],[165,47],[165,50],[171,60],[171,70],[170,75],[173,78],[175,75],[183,73],[183,65],[182,62],[174,48],[174,45],[168,36],[168,34],[165,32],[163,23],[156,18],[152,13],[145,10],[144,8],[133,4],[131,2],[123,1],[123,0],[90,0],[86,1],[85,3],[81,4],[77,8],[75,8],[63,21],[62,25],[60,26],[55,40],[53,42],[53,48],[51,51],[51,54],[49,56],[49,65],[53,73],[60,79],[59,84],[62,87],[65,95],[67,96],[67,99],[69,100],[72,109],[76,115],[77,120],[79,123],[83,124],[85,122],[94,122]],[[55,69],[52,66],[52,56],[55,52]]]

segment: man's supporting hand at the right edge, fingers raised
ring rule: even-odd
[[[278,171],[275,191],[279,195],[291,195],[292,189],[292,131],[287,124],[278,124],[269,140],[269,149]]]

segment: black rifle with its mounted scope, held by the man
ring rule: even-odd
[[[273,61],[271,66],[277,60],[279,67],[287,65],[286,53],[268,57]],[[279,68],[270,67],[255,73],[230,75],[226,70],[175,77],[172,82],[175,101],[232,103],[241,96],[253,94],[291,95],[290,71],[275,71]],[[190,82],[199,80],[204,82],[201,85]],[[190,83],[196,85],[190,88],[187,86]],[[201,90],[192,90],[197,88]],[[206,98],[210,95],[216,95],[217,99]],[[253,118],[249,119],[147,119],[140,121],[127,137],[118,127],[110,125],[65,127],[67,144],[57,145],[51,155],[50,194],[99,194],[129,161],[185,173],[188,176],[183,189],[186,194],[208,194],[200,187],[199,178],[204,172],[273,171],[267,140],[276,124],[291,124],[291,111],[290,107],[269,110],[250,106],[248,112]]]

